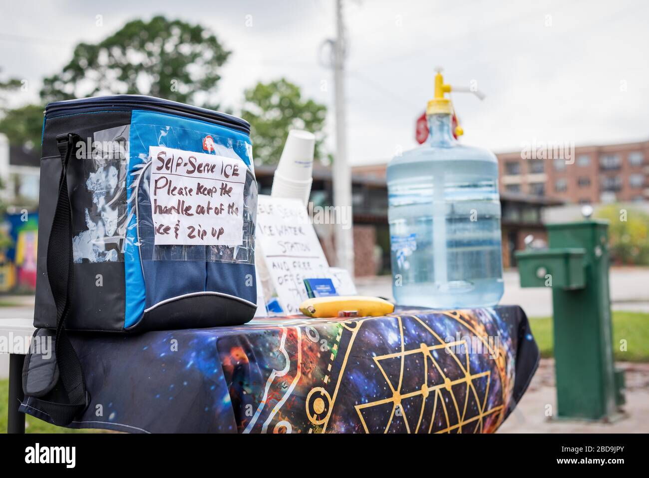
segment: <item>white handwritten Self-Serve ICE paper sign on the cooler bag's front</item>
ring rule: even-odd
[[[149,155],[156,245],[243,244],[243,161],[161,146]]]

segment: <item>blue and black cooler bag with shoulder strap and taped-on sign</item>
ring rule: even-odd
[[[67,331],[238,325],[256,310],[257,184],[243,119],[141,95],[45,108],[23,388],[65,425],[88,392]]]

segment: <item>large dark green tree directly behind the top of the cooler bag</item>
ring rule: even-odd
[[[98,94],[146,94],[210,105],[230,56],[201,25],[156,16],[129,21],[98,44],[81,43],[63,70],[43,80],[41,97],[56,101]]]

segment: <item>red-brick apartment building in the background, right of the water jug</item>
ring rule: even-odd
[[[572,155],[497,154],[500,191],[574,204],[649,201],[649,141],[581,146]]]

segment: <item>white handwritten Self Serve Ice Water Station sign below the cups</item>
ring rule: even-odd
[[[284,314],[299,314],[308,299],[304,279],[329,277],[329,265],[299,199],[260,195],[256,239]]]

